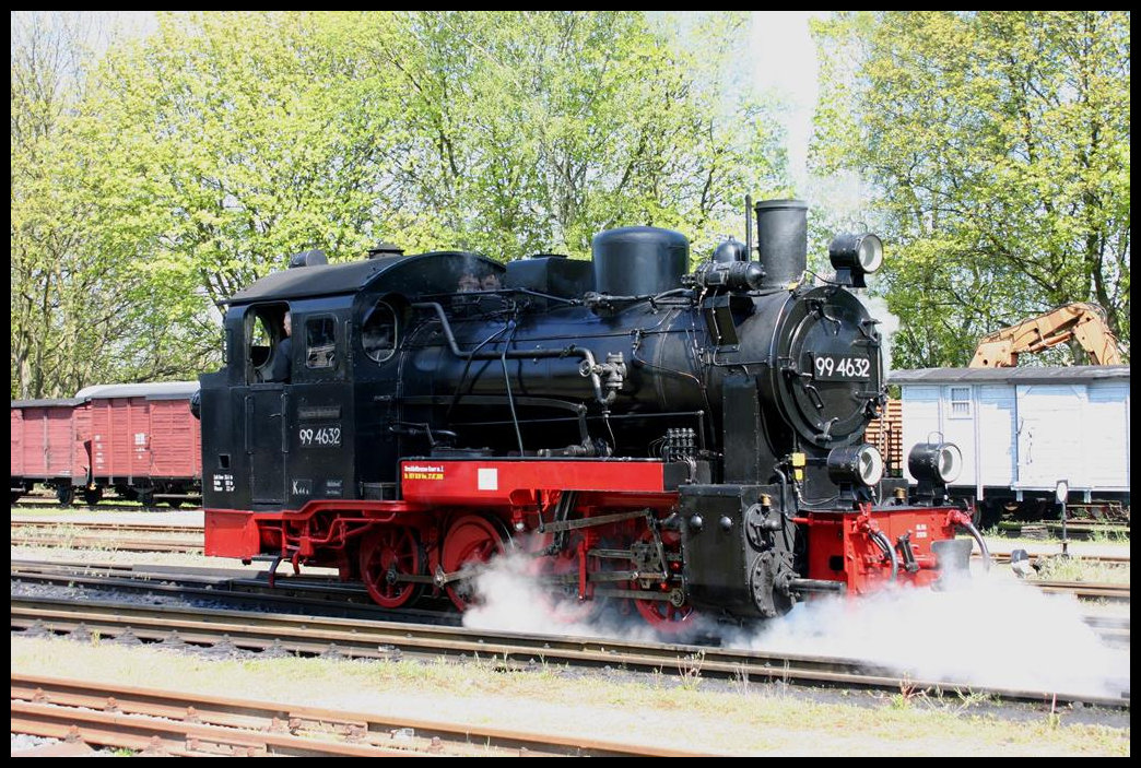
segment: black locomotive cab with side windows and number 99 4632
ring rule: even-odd
[[[389,411],[410,299],[453,293],[466,274],[502,272],[460,252],[347,265],[310,257],[234,296],[228,366],[202,377],[208,506],[280,510],[396,498],[399,426]],[[286,313],[292,333],[283,348]]]

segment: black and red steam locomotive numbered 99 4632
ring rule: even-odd
[[[201,377],[207,552],[463,608],[474,569],[519,550],[556,592],[663,629],[964,566],[957,448],[916,446],[909,490],[863,439],[885,391],[850,289],[880,241],[841,235],[814,284],[807,204],[755,213],[759,260],[748,223],[691,272],[653,227],[597,235],[592,261],[297,254],[228,301],[228,364]]]

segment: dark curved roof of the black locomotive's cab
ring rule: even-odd
[[[479,261],[484,269],[496,272],[504,269],[503,265],[485,256],[464,251],[432,251],[415,256],[385,256],[348,264],[321,264],[311,267],[293,267],[266,275],[249,288],[245,288],[226,300],[226,304],[246,304],[273,299],[305,299],[317,296],[334,296],[356,293],[379,281],[381,276],[394,283],[404,282],[402,273],[418,286],[426,281],[438,281],[437,291],[454,290],[455,278],[463,269],[462,265]],[[454,265],[454,268],[438,269],[438,266]],[[444,273],[455,273],[455,275]],[[447,284],[445,289],[444,285]],[[402,290],[394,285],[394,290]]]

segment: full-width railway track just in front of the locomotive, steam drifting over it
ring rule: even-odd
[[[71,601],[14,596],[11,628],[31,636],[72,633],[89,639],[92,633],[98,633],[100,638],[115,638],[119,642],[189,644],[234,650],[386,660],[447,656],[484,660],[505,669],[531,669],[542,662],[890,692],[973,690],[1008,701],[1053,698],[1060,703],[1128,706],[1127,690],[1115,697],[1099,697],[1067,692],[980,688],[968,684],[916,680],[851,658],[87,599]]]

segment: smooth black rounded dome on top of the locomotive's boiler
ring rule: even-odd
[[[610,296],[654,296],[681,288],[689,240],[672,229],[623,227],[594,235],[594,290]]]

